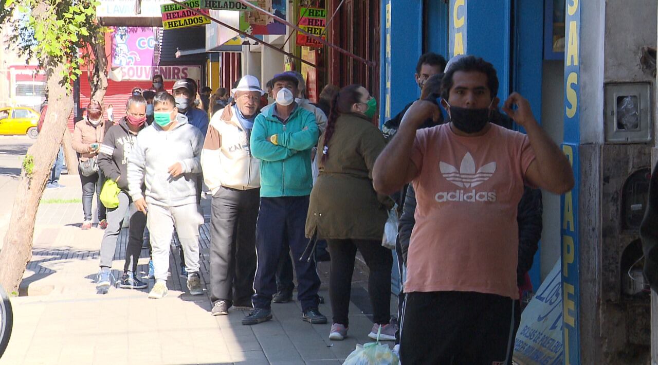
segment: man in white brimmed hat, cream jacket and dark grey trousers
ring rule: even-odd
[[[256,218],[260,160],[251,155],[249,135],[265,93],[246,75],[232,90],[235,101],[211,119],[201,152],[201,168],[213,193],[211,216],[211,301],[213,316],[231,306],[252,308],[256,272]]]

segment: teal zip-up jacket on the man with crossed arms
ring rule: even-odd
[[[275,106],[263,109],[251,130],[251,154],[261,160],[261,197],[311,195],[311,149],[318,143],[315,115],[295,107],[286,121],[272,115]],[[268,139],[277,135],[277,145]]]

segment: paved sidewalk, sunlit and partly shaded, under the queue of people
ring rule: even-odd
[[[147,299],[143,291],[95,291],[103,231],[83,231],[82,189],[77,176],[62,176],[64,189],[47,190],[39,207],[33,257],[12,299],[14,329],[0,364],[340,364],[357,343],[371,342],[367,278],[356,272],[350,329],[345,341],[328,340],[330,324],[312,326],[301,320],[299,303],[272,304],[274,320],[242,326],[246,312],[211,316],[207,295],[193,297],[182,288],[180,258],[172,246],[168,297]],[[74,202],[74,203],[68,203]],[[204,199],[206,221],[209,199]],[[3,209],[7,209],[5,207]],[[200,228],[201,274],[209,280],[208,222]],[[120,276],[127,231],[114,256]],[[147,271],[142,251],[139,270]],[[358,271],[358,270],[356,270]],[[320,263],[321,295],[328,301],[328,263]],[[392,308],[396,299],[392,297]],[[330,316],[328,304],[320,311]]]

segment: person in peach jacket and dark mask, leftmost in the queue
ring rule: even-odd
[[[80,163],[86,160],[96,160],[101,142],[105,137],[105,122],[103,122],[103,108],[97,101],[89,102],[87,105],[87,116],[80,122],[76,123],[73,130],[72,147],[78,153],[78,160]],[[82,211],[84,212],[84,222],[82,223],[83,230],[91,228],[91,220],[93,219],[93,212],[91,211],[93,194],[96,193],[97,212],[98,212],[98,228],[107,228],[107,220],[105,219],[105,207],[101,204],[99,199],[101,189],[105,179],[103,172],[100,170],[84,176],[80,174],[80,182],[82,183]]]

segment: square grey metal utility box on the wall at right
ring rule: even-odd
[[[628,82],[605,84],[605,141],[607,143],[651,142],[653,108],[651,84]]]

